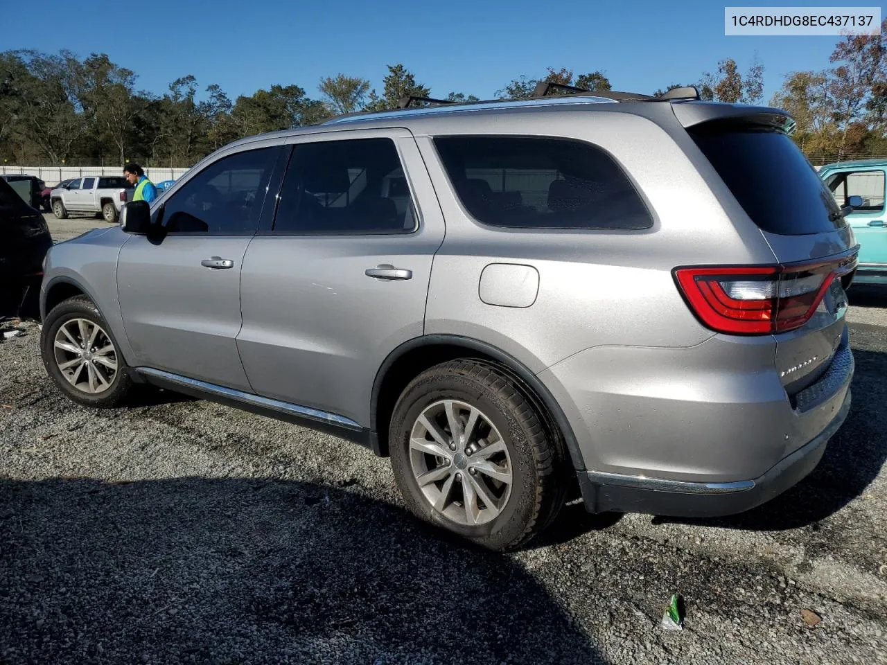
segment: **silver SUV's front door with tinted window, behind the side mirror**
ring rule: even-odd
[[[248,390],[237,353],[240,268],[282,146],[214,160],[153,207],[161,239],[134,235],[117,263],[131,364]]]

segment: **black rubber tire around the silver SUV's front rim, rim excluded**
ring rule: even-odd
[[[72,386],[63,376],[56,361],[55,339],[59,328],[77,318],[86,319],[94,325],[98,325],[114,345],[117,370],[110,380],[110,387],[101,393],[90,394]],[[86,296],[69,298],[52,308],[46,316],[43,329],[40,332],[40,353],[43,356],[43,366],[46,368],[46,372],[49,373],[56,386],[75,403],[97,408],[111,408],[121,404],[130,392],[132,386],[130,368],[123,359],[120,345],[114,339],[105,317],[99,314],[98,308]]]

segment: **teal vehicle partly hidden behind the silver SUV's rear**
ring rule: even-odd
[[[887,159],[826,164],[820,168],[820,176],[838,206],[848,205],[852,196],[862,197],[862,205],[854,206],[845,216],[860,244],[860,267],[853,283],[887,286],[887,215],[884,215]]]

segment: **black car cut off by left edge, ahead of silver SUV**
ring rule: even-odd
[[[0,178],[0,314],[14,314],[26,299],[37,300],[51,246],[43,214]],[[26,309],[31,309],[27,302]]]

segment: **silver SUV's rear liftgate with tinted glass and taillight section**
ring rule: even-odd
[[[849,354],[845,289],[858,247],[834,198],[787,133],[784,114],[710,120],[687,132],[773,249],[773,266],[711,282],[727,308],[761,317],[776,340],[775,363],[789,397]],[[754,333],[751,330],[742,332]]]

